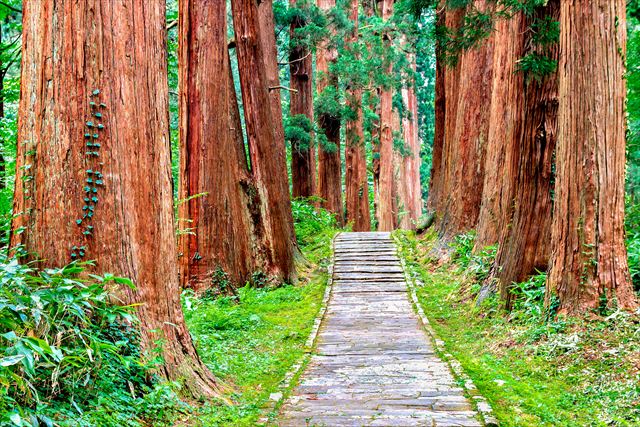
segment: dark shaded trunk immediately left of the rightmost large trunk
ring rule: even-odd
[[[559,12],[560,1],[550,0],[546,6],[536,10],[534,19],[557,21]],[[506,197],[501,196],[497,208],[504,209],[506,216],[500,225],[498,252],[487,283],[497,279],[500,296],[507,309],[511,309],[513,304],[512,284],[526,280],[536,270],[545,271],[550,255],[558,75],[554,72],[537,81],[519,71],[517,63],[534,51],[557,60],[558,45],[532,47],[531,33],[526,31],[530,24],[522,14],[517,14],[510,22],[499,23],[496,34],[496,47],[503,43],[504,38],[515,43],[505,44],[509,48],[502,49],[502,58],[495,61],[498,74],[494,83],[510,87],[500,103],[492,103],[491,126],[495,126],[498,133],[492,132],[490,137],[490,141],[492,138],[504,141],[506,161],[494,173],[506,177],[502,189]],[[514,34],[518,36],[514,37]],[[500,111],[500,106],[504,107],[503,111]],[[500,111],[498,117],[507,119],[506,123],[494,122],[496,110]],[[511,117],[509,111],[518,114]],[[510,126],[510,120],[517,126]]]

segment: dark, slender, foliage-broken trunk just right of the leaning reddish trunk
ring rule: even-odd
[[[291,7],[307,8],[307,0],[291,0]],[[289,70],[291,74],[291,117],[305,116],[313,122],[313,57],[296,32],[304,28],[306,22],[296,16],[291,22]],[[311,197],[316,193],[316,159],[312,142],[307,146],[291,144],[291,181],[293,197]]]

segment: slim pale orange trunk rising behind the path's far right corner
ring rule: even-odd
[[[382,19],[393,15],[393,0],[382,3]],[[384,34],[385,44],[391,45],[390,35]],[[393,64],[389,62],[385,72],[391,75]],[[383,88],[380,93],[380,188],[377,206],[378,230],[392,231],[396,217],[393,211],[393,90]]]

